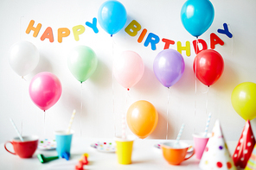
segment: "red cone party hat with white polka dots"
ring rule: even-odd
[[[246,167],[247,161],[253,152],[253,147],[255,145],[255,138],[253,135],[253,130],[251,128],[250,121],[246,121],[246,125],[240,136],[240,140],[234,150],[233,161],[236,167],[241,168]],[[256,152],[256,151],[255,151]]]

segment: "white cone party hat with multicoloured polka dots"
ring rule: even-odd
[[[212,136],[204,149],[199,167],[203,170],[236,170],[222,134],[219,120],[216,120],[214,124]]]

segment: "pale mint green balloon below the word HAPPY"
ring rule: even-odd
[[[71,50],[67,57],[67,65],[74,78],[82,83],[95,72],[98,59],[92,48],[78,46]]]

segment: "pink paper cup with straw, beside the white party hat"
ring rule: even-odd
[[[195,157],[198,160],[201,160],[204,148],[206,147],[209,137],[211,136],[210,133],[208,133],[206,137],[204,136],[204,134],[205,134],[204,132],[193,134],[194,144],[195,144]]]

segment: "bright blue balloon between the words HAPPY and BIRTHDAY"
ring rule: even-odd
[[[118,1],[102,3],[98,11],[99,25],[108,34],[114,35],[125,26],[127,14],[125,6]]]

